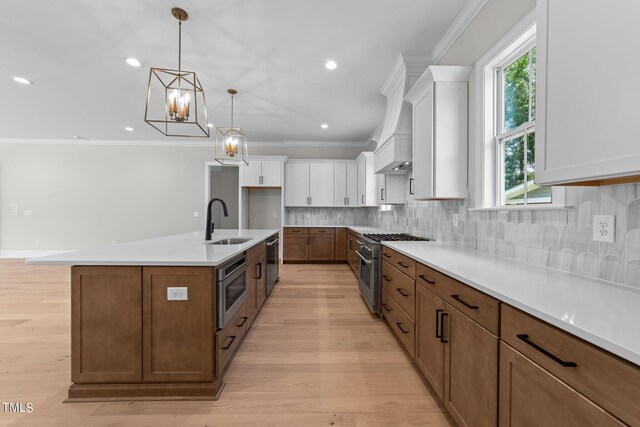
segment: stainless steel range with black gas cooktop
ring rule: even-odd
[[[384,241],[428,241],[422,237],[412,236],[404,233],[390,234],[363,234],[356,250],[359,260],[358,286],[360,295],[367,303],[372,313],[380,316],[380,305],[382,303],[382,253],[380,242]]]

